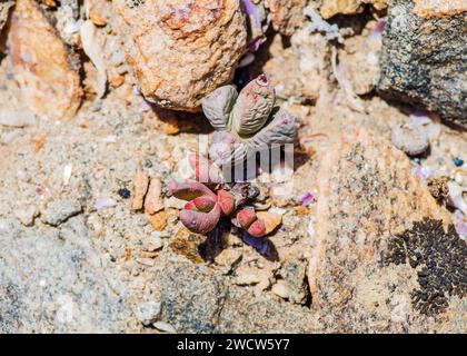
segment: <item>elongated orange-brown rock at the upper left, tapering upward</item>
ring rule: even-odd
[[[54,119],[73,117],[82,97],[79,73],[36,1],[17,1],[8,48],[11,71],[31,111]]]

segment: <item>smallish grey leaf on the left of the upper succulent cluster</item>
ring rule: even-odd
[[[229,125],[230,111],[238,98],[234,86],[223,86],[202,100],[202,111],[216,130],[226,130]]]

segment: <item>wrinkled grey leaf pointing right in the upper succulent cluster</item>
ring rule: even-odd
[[[271,144],[294,144],[297,137],[295,118],[285,109],[279,109],[272,120],[257,135],[248,139],[251,151],[265,150]]]

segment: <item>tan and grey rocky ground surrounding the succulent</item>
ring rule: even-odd
[[[463,3],[188,2],[0,1],[0,330],[465,333]],[[190,233],[199,102],[260,72],[300,125],[280,224]]]

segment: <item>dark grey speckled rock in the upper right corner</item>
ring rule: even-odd
[[[379,91],[467,127],[466,20],[419,17],[413,1],[390,1]]]

